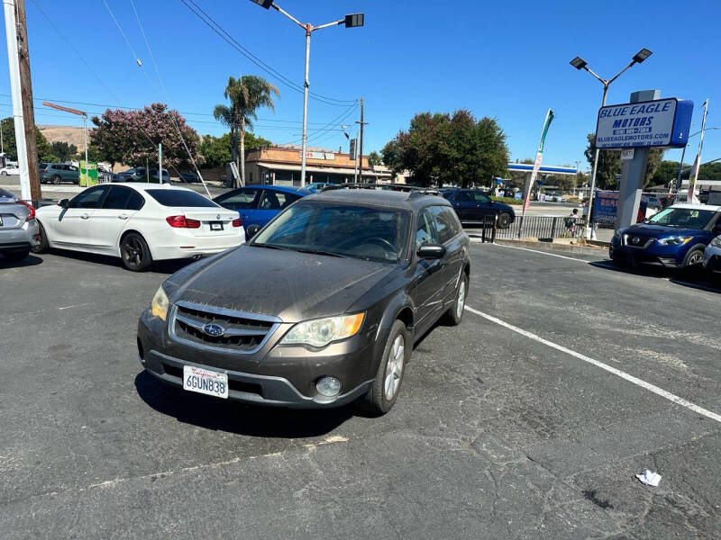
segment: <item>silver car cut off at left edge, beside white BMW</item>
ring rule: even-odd
[[[0,255],[11,261],[23,260],[39,243],[35,209],[0,188]]]

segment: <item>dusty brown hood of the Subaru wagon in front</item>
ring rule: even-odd
[[[164,287],[170,302],[194,302],[279,317],[284,322],[347,311],[397,266],[240,246],[187,266]]]

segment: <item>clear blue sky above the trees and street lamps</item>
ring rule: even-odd
[[[300,28],[250,0],[194,1],[243,47],[302,84],[305,35]],[[643,47],[653,50],[653,56],[611,85],[608,103],[624,103],[634,90],[657,88],[662,96],[693,100],[692,130],[700,128],[701,103],[707,98],[707,126],[721,125],[721,112],[716,112],[721,111],[717,31],[721,3],[716,0],[278,1],[301,21],[314,24],[346,13],[366,14],[364,28],[339,26],[315,32],[310,64],[312,92],[339,100],[364,97],[365,120],[370,122],[366,152],[379,150],[398,130],[406,129],[416,112],[468,108],[478,117],[497,118],[507,133],[512,159],[534,157],[550,107],[556,118],[544,162],[573,165],[580,160],[585,168],[586,134],[595,130],[602,86],[588,73],[570,67],[569,60],[580,55],[599,75],[610,77]],[[135,0],[167,96],[160,89],[130,0],[106,2],[141,58],[145,74],[103,0],[78,0],[72,7],[26,0],[36,97],[132,107],[168,102],[199,133],[217,135],[224,128],[211,113],[215,103],[224,102],[228,76],[258,74],[278,85],[280,99],[275,113],[260,111],[256,133],[277,143],[299,142],[302,94],[251,64],[180,0]],[[0,57],[0,70],[7,74],[7,56]],[[0,94],[10,94],[7,76],[2,77]],[[0,111],[9,115],[9,95],[0,96],[0,103]],[[77,106],[88,112],[103,110]],[[311,100],[308,144],[342,146],[347,151],[338,124],[349,125],[353,135],[358,112]],[[37,123],[81,125],[61,112],[38,107],[36,113]],[[317,131],[331,121],[333,130]],[[698,138],[691,140],[693,156]],[[721,157],[721,130],[710,130],[704,161],[716,157]],[[679,159],[680,150],[669,150],[666,158]]]

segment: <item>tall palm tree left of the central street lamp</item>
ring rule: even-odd
[[[214,117],[231,130],[233,161],[241,173],[241,184],[245,184],[245,130],[252,128],[258,119],[260,107],[275,111],[273,94],[280,97],[278,88],[261,76],[243,75],[239,79],[228,77],[224,96],[230,100],[228,105],[215,105]],[[240,147],[240,148],[238,148]]]

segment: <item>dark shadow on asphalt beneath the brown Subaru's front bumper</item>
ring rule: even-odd
[[[135,388],[152,409],[179,422],[250,437],[320,437],[353,416],[364,416],[352,406],[324,410],[254,407],[186,392],[144,371],[135,377]]]

